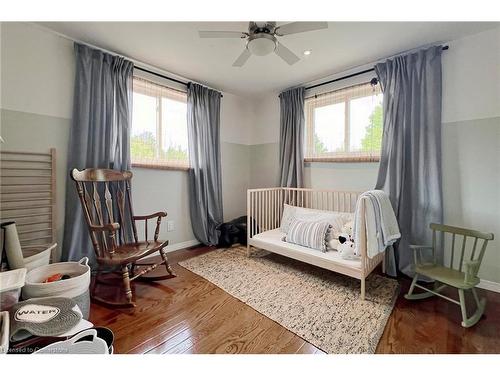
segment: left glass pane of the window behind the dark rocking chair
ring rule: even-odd
[[[156,97],[134,93],[132,109],[132,159],[154,159],[156,156]]]

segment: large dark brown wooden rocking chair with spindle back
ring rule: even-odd
[[[76,183],[98,264],[91,290],[93,300],[106,305],[133,307],[135,304],[132,302],[131,281],[136,279],[158,281],[175,277],[165,251],[168,241],[158,240],[161,219],[167,216],[167,213],[156,212],[146,216],[134,215],[130,194],[132,172],[120,172],[112,169],[84,169],[82,171],[73,169],[71,178]],[[104,209],[102,203],[104,203]],[[149,219],[156,219],[153,240],[148,239]],[[138,239],[136,221],[144,221],[144,241]],[[160,254],[162,258],[160,263],[136,264],[137,261],[154,252]],[[166,275],[145,276],[146,273],[160,265],[165,265]],[[100,282],[99,276],[103,267],[120,268],[126,303],[111,302],[96,296],[95,292],[97,284]],[[136,272],[136,267],[144,268]]]

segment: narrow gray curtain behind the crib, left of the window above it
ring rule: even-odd
[[[280,180],[283,187],[304,186],[305,88],[280,94]]]

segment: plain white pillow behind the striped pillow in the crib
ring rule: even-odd
[[[283,233],[288,233],[290,224],[295,220],[301,221],[326,221],[332,226],[331,233],[335,238],[342,231],[342,227],[348,221],[353,220],[354,213],[317,210],[314,208],[296,207],[285,204],[281,217],[280,229]]]

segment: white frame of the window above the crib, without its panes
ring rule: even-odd
[[[312,153],[309,150],[314,149],[314,110],[316,108],[322,108],[334,104],[344,103],[344,148],[349,150],[350,148],[350,135],[351,135],[351,123],[350,123],[350,106],[351,101],[358,98],[367,97],[361,92],[355,93],[353,88],[356,86],[369,85],[370,82],[365,82],[361,84],[356,84],[352,86],[347,86],[342,89],[329,91],[323,94],[316,94],[305,99],[304,103],[304,121],[305,121],[305,137],[304,137],[304,162],[306,163],[377,163],[380,162],[380,152],[378,154],[373,154],[367,152],[362,154],[359,152],[352,152],[353,155],[348,155],[351,151],[344,151],[343,155],[335,155],[334,152],[330,152],[331,156],[310,156]],[[373,87],[373,86],[372,86]],[[352,91],[351,91],[352,90]],[[383,95],[380,85],[375,87],[376,94]],[[314,101],[318,97],[325,97],[325,101],[321,105],[314,105]],[[328,98],[330,97],[330,98]],[[318,103],[319,104],[319,103]],[[313,124],[309,126],[309,121]]]

